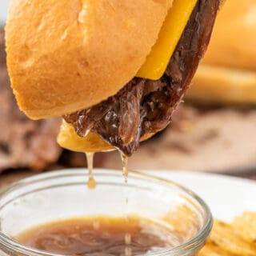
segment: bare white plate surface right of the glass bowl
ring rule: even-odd
[[[210,206],[214,218],[229,222],[246,210],[256,212],[256,182],[218,174],[150,171],[161,178],[177,182],[198,194]]]

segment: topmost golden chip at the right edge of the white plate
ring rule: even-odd
[[[256,246],[256,213],[246,212],[235,218],[231,225],[242,238]]]

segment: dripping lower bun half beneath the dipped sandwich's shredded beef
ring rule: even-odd
[[[154,134],[147,134],[142,137],[141,141],[144,141],[153,135]],[[74,127],[65,121],[62,122],[62,126],[58,133],[57,142],[59,146],[62,146],[67,150],[83,153],[115,150],[113,146],[103,141],[98,134],[90,132],[86,135],[86,137],[79,137],[78,134],[76,134]]]

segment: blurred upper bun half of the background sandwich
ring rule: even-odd
[[[256,70],[256,1],[226,0],[203,63]]]

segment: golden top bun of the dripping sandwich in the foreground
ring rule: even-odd
[[[11,0],[7,62],[30,118],[94,106],[135,76],[172,0]]]

